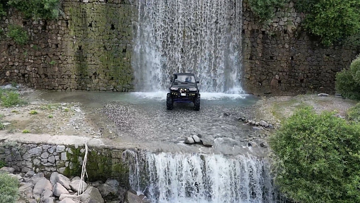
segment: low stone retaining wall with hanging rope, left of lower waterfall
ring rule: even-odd
[[[87,181],[116,179],[129,188],[129,168],[123,150],[89,148],[86,161]],[[67,177],[81,175],[84,146],[0,142],[0,161],[19,172],[33,170],[49,177],[57,171]]]

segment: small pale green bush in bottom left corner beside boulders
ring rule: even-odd
[[[17,178],[0,172],[0,202],[15,203],[19,193],[18,187]]]

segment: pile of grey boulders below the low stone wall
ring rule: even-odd
[[[17,203],[146,203],[144,195],[137,195],[136,191],[128,190],[114,179],[105,182],[84,182],[80,177],[68,177],[58,172],[26,173],[18,172],[12,167],[2,167],[1,172],[19,180],[19,198]]]

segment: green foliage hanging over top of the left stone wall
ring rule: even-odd
[[[20,10],[27,18],[55,19],[60,12],[59,0],[9,0],[8,5]]]

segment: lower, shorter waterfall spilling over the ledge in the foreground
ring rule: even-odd
[[[125,151],[130,185],[151,202],[278,202],[269,165],[255,157]]]

